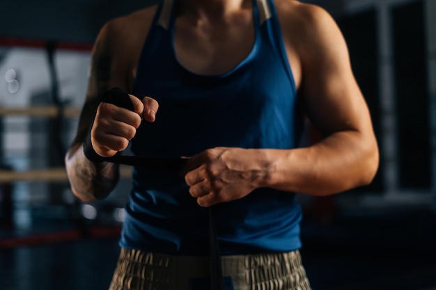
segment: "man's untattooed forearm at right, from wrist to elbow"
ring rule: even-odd
[[[343,131],[311,147],[267,150],[265,186],[310,195],[329,195],[371,183],[378,166],[377,144]]]

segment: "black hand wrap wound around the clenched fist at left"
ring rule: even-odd
[[[101,102],[114,104],[115,106],[119,106],[121,108],[127,108],[130,111],[134,111],[132,100],[130,99],[127,92],[120,88],[111,88],[104,92],[101,96]],[[93,128],[93,123],[89,127],[88,134],[86,134],[86,138],[84,140],[84,154],[89,161],[100,163],[103,161],[110,161],[111,157],[103,157],[100,156],[97,152],[95,152],[93,144],[91,142],[91,129]],[[117,152],[116,155],[121,154],[121,152]]]

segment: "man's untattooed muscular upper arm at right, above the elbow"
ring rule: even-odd
[[[309,49],[302,52],[302,104],[323,136],[337,131],[371,131],[364,97],[352,73],[348,47],[334,20],[316,11]]]

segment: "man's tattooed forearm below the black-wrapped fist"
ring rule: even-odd
[[[67,152],[65,166],[72,192],[83,202],[106,198],[119,179],[117,164],[89,161],[82,145],[72,147]]]

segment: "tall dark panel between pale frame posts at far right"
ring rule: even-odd
[[[392,10],[400,186],[409,189],[431,184],[423,9],[418,1]]]

